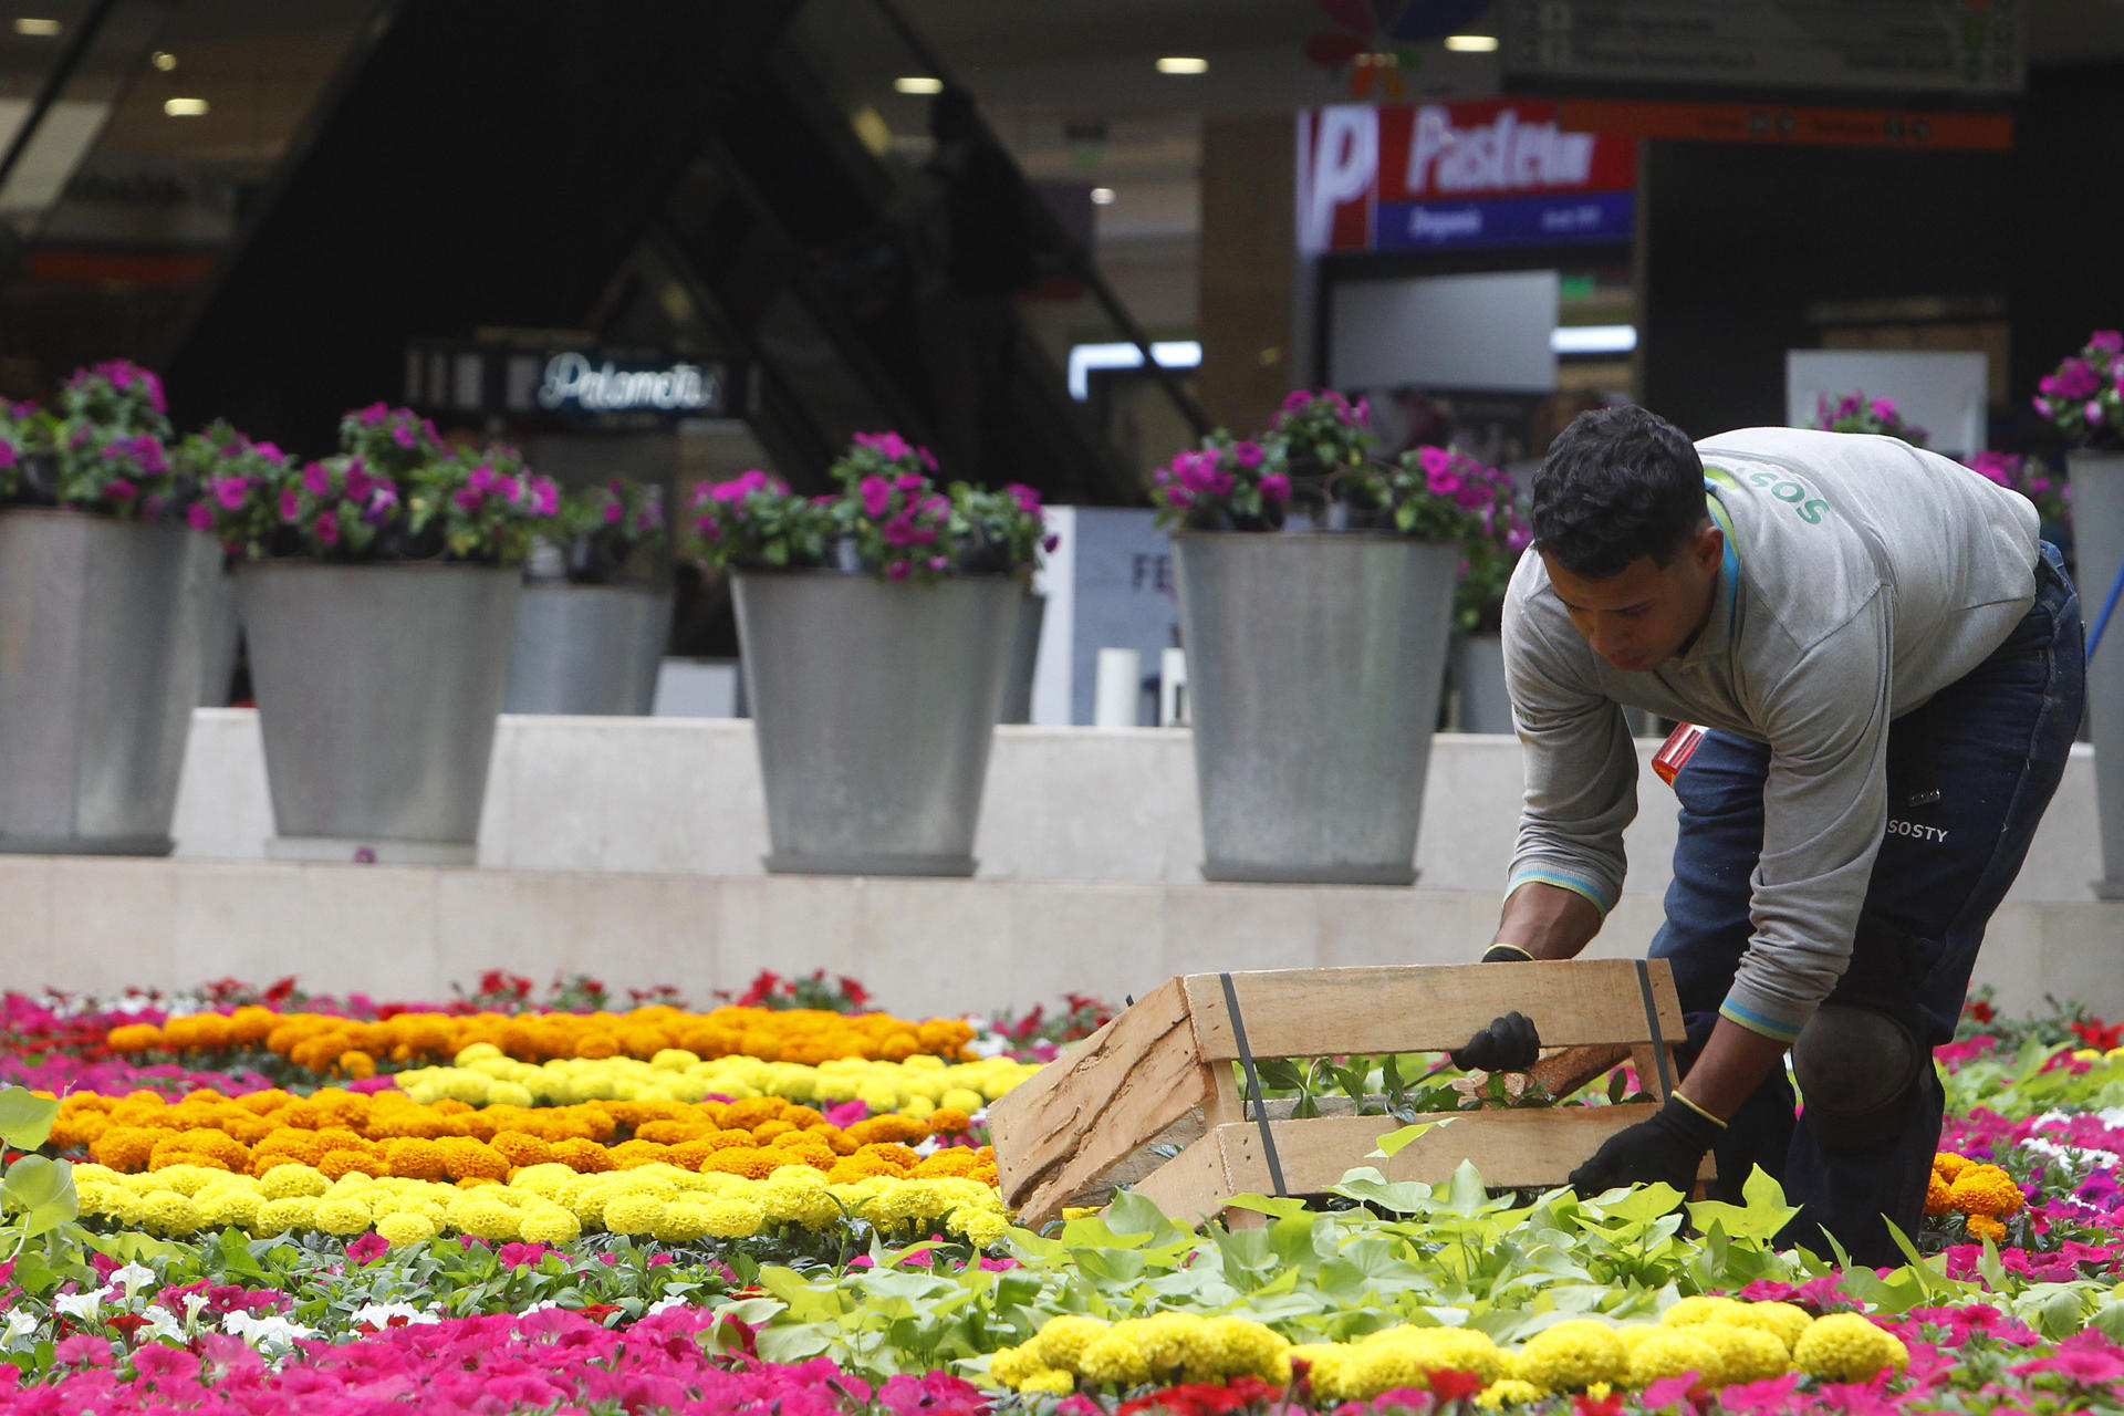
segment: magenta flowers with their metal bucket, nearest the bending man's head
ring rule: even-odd
[[[1202,875],[1408,885],[1461,565],[1510,529],[1502,473],[1381,463],[1364,401],[1298,391],[1153,476],[1175,522]]]

